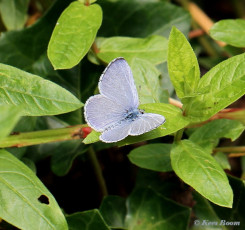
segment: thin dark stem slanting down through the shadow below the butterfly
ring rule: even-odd
[[[94,169],[94,174],[96,176],[98,185],[100,187],[101,194],[102,194],[103,197],[107,196],[108,195],[108,191],[107,191],[105,179],[103,177],[99,161],[97,159],[96,153],[95,153],[92,145],[90,145],[90,147],[88,149],[88,157],[89,157],[91,165],[92,165],[92,167]]]

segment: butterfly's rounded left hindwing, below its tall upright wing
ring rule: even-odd
[[[98,132],[122,120],[123,111],[123,106],[101,94],[90,97],[84,106],[86,122]]]

